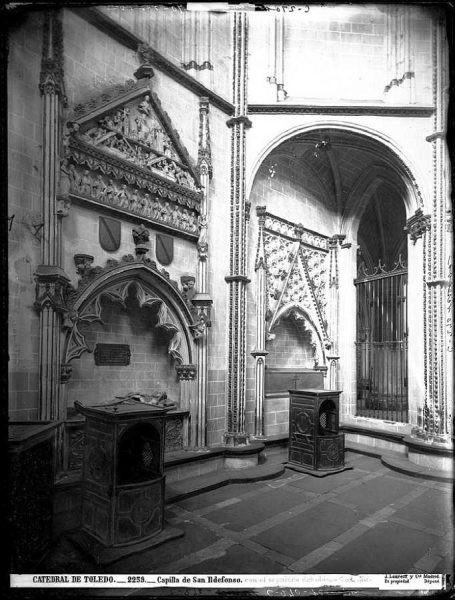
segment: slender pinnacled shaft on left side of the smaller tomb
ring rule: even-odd
[[[251,352],[256,362],[256,386],[255,386],[255,418],[254,418],[254,437],[264,437],[264,397],[265,397],[265,357],[268,352],[265,349],[266,342],[266,277],[267,266],[265,260],[264,248],[264,225],[265,225],[265,206],[256,207],[256,213],[259,221],[259,240],[258,252],[256,256],[255,271],[256,279],[256,347]]]

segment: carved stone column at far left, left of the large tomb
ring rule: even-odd
[[[42,246],[37,269],[38,294],[61,284],[61,216],[67,214],[64,171],[60,173],[63,150],[62,111],[66,104],[63,82],[63,31],[58,11],[44,15],[43,54],[39,84],[42,96]],[[62,175],[62,177],[60,177]],[[67,195],[66,195],[67,197]],[[40,418],[57,420],[65,417],[60,386],[61,318],[53,302],[41,302],[40,310]]]

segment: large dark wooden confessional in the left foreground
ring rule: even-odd
[[[86,417],[86,445],[82,528],[72,541],[98,564],[109,564],[183,536],[164,528],[166,409],[76,404]]]

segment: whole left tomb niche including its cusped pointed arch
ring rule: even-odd
[[[182,393],[196,373],[190,325],[183,298],[161,273],[141,262],[106,269],[78,290],[67,313],[69,404],[104,403],[130,392],[166,393],[178,408],[190,410],[191,397]],[[111,345],[122,346],[123,356],[100,361],[101,350]],[[182,368],[192,369],[193,376],[181,377]]]

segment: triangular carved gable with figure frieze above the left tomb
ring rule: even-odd
[[[198,237],[197,171],[149,79],[78,105],[62,170],[73,198]]]

